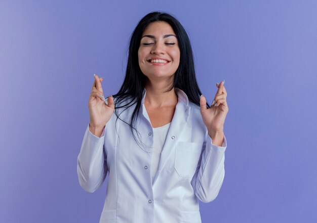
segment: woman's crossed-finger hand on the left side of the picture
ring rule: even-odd
[[[103,78],[99,78],[97,75],[95,75],[95,81],[93,83],[93,88],[88,101],[90,114],[89,125],[92,129],[103,129],[114,111],[114,102],[112,96],[108,97],[108,105],[106,105],[103,101],[103,90],[101,86],[102,80]]]

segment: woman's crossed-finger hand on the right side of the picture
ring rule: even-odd
[[[213,135],[223,132],[224,120],[229,111],[226,101],[227,92],[223,84],[224,81],[221,81],[219,85],[216,84],[218,91],[210,108],[207,108],[207,101],[203,95],[201,96],[200,101],[203,121],[207,127],[208,133]]]

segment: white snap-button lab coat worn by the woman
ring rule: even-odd
[[[80,185],[90,193],[102,185],[108,173],[100,223],[201,223],[199,200],[211,202],[217,197],[224,179],[226,139],[221,147],[212,144],[200,107],[176,87],[175,92],[178,103],[153,184],[153,129],[144,107],[145,89],[137,129],[148,147],[142,150],[130,126],[120,119],[115,123],[114,113],[100,138],[87,126],[77,173]],[[134,106],[120,116],[128,123]]]

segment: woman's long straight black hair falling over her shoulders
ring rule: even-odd
[[[183,26],[176,18],[174,18],[168,13],[156,11],[144,16],[139,21],[130,38],[129,56],[125,80],[118,93],[113,95],[113,98],[116,99],[115,114],[117,116],[117,119],[119,118],[120,120],[122,120],[119,117],[120,114],[117,114],[117,108],[125,108],[124,110],[126,110],[127,108],[136,104],[133,114],[131,116],[130,123],[122,120],[130,126],[133,138],[136,142],[137,140],[135,138],[133,129],[135,129],[135,131],[138,133],[137,129],[135,128],[135,124],[141,107],[141,101],[143,96],[142,93],[147,78],[142,73],[139,67],[138,50],[140,47],[140,41],[143,31],[150,23],[156,21],[164,21],[172,26],[176,34],[180,50],[179,66],[174,74],[173,84],[167,92],[172,91],[174,87],[178,87],[187,95],[188,100],[197,106],[200,106],[200,96],[202,95],[196,81],[193,54],[191,50],[190,41]],[[208,103],[207,107],[210,107]]]

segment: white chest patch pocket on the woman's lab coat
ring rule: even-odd
[[[178,175],[190,178],[193,176],[201,154],[200,147],[199,143],[178,142],[176,144],[174,168]]]

